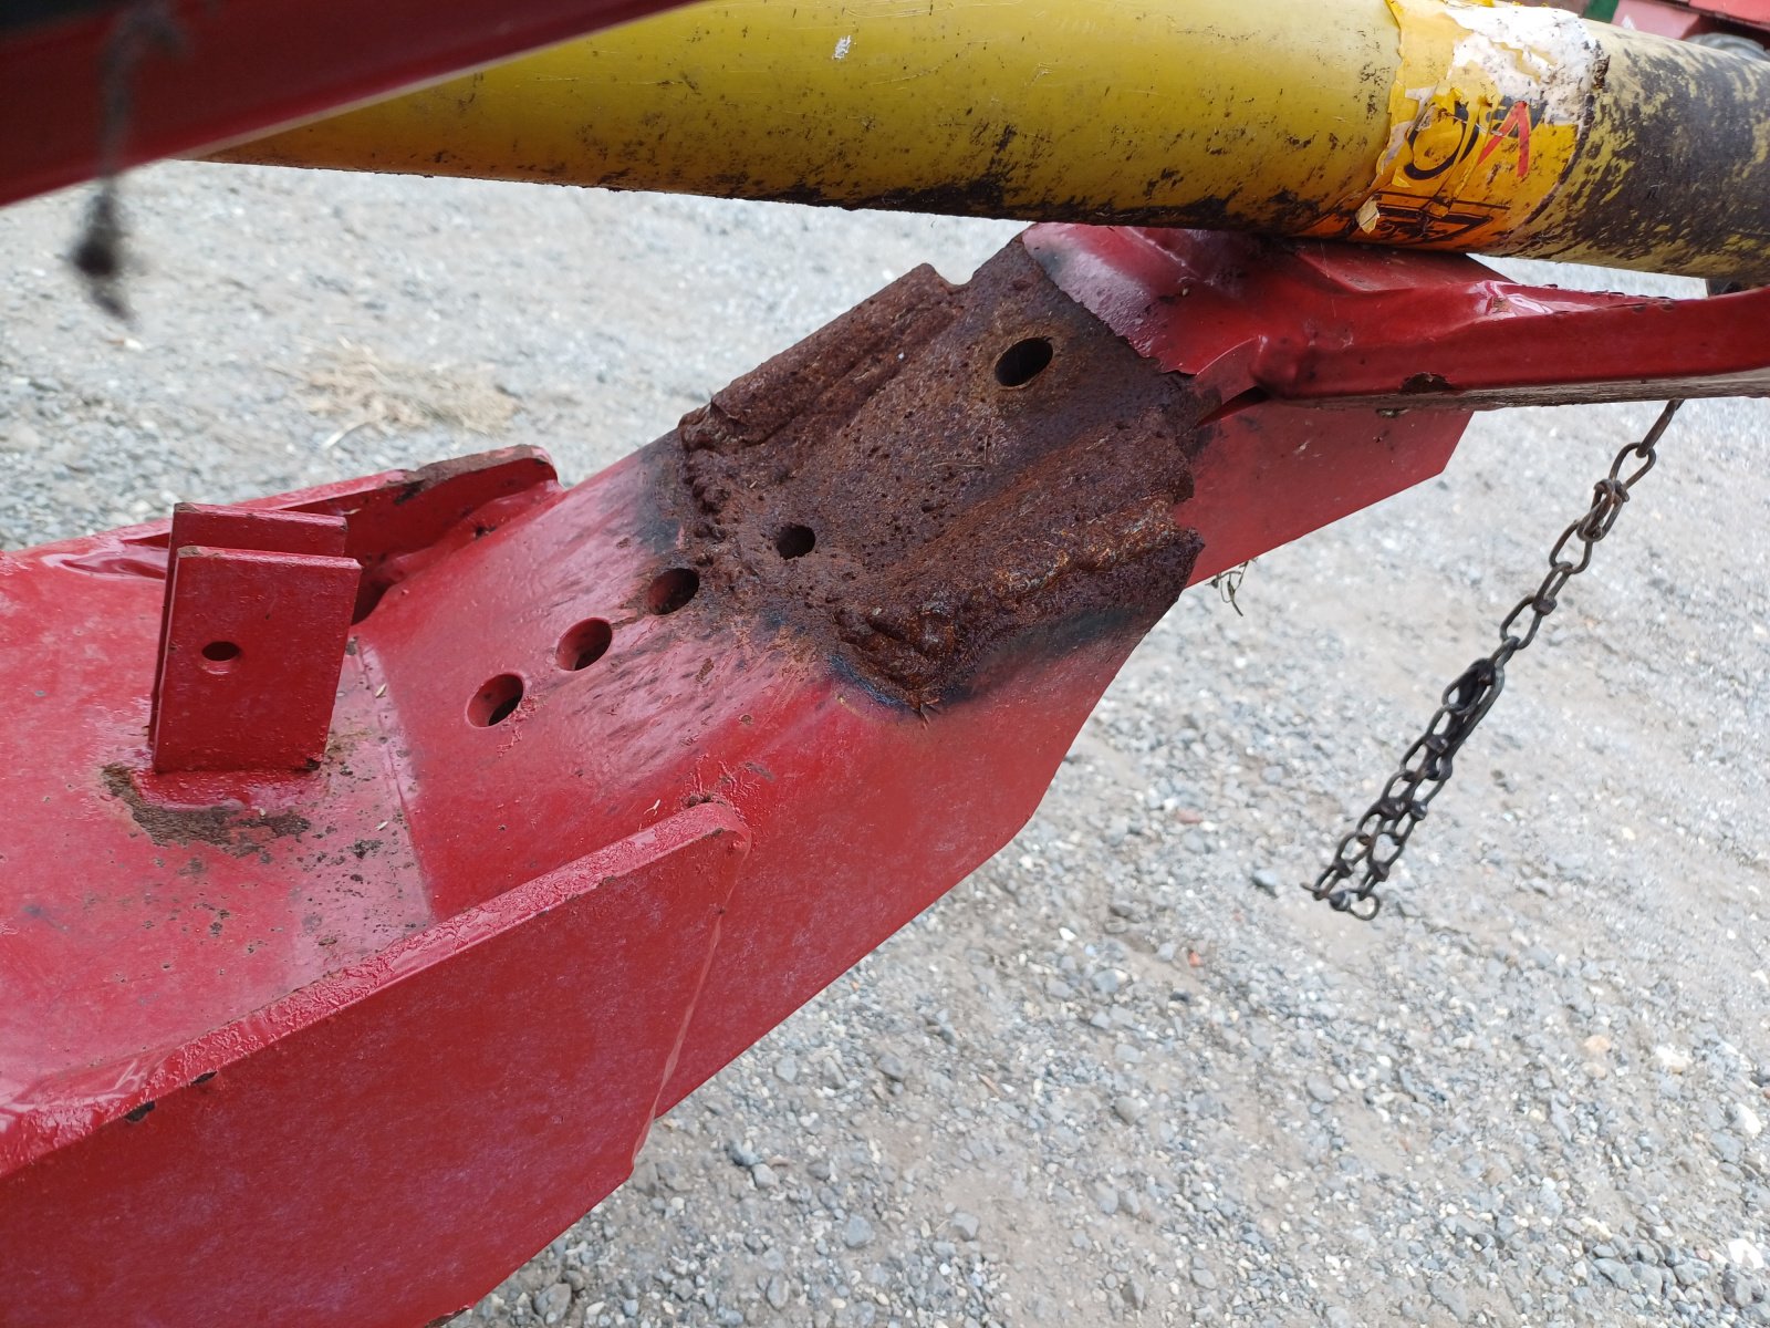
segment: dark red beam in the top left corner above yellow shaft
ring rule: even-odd
[[[0,126],[0,205],[666,7],[453,0],[439,14],[421,0],[27,2],[23,18],[0,14],[11,108]]]

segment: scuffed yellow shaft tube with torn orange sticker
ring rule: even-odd
[[[1770,280],[1770,62],[1458,0],[701,4],[218,156]]]

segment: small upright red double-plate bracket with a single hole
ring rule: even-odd
[[[154,678],[154,770],[312,770],[361,568],[347,522],[181,505]]]

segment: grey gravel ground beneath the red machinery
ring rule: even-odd
[[[131,326],[57,257],[78,198],[0,214],[7,545],[489,439],[579,478],[1014,230],[196,165],[127,197]],[[1770,1324],[1770,407],[1685,411],[1381,924],[1294,887],[1651,414],[1481,418],[1239,614],[1182,598],[1021,836],[469,1321]]]

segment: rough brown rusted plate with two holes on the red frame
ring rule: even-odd
[[[924,706],[1016,643],[1168,607],[1207,405],[1020,244],[966,287],[920,267],[683,418],[685,552]]]

